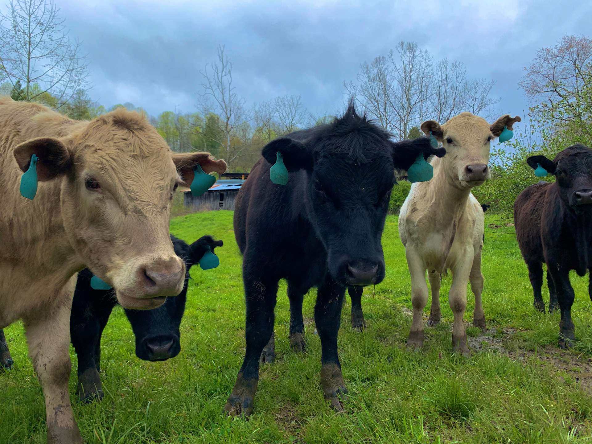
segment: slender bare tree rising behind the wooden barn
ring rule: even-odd
[[[221,136],[223,140],[217,140],[222,146],[223,157],[229,165],[237,158],[247,154],[247,146],[233,141],[234,133],[244,133],[244,124],[249,119],[246,116],[244,99],[236,94],[233,86],[232,63],[224,55],[224,46],[218,46],[218,62],[206,65],[200,71],[202,76],[201,86],[203,92],[203,114],[214,112],[220,117]]]

